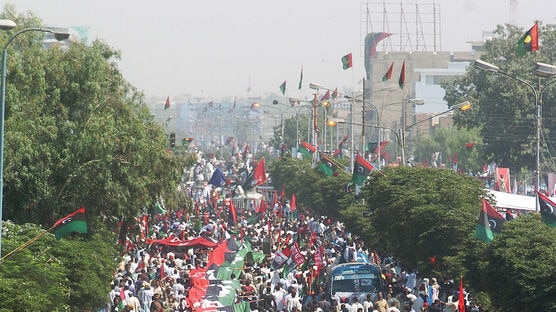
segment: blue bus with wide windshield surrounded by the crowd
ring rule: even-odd
[[[369,294],[374,302],[378,293],[384,291],[382,272],[375,264],[341,263],[330,267],[327,275],[330,299],[338,303],[351,304],[355,297],[363,302]]]

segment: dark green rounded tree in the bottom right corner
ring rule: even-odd
[[[493,311],[554,311],[556,301],[556,229],[539,214],[504,223],[502,232],[483,246],[474,283],[488,293]]]

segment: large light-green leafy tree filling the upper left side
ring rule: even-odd
[[[2,18],[19,26],[1,41],[40,26],[6,11]],[[5,218],[46,226],[84,205],[91,228],[108,220],[115,230],[116,219],[128,225],[160,197],[175,197],[185,157],[166,151],[164,130],[117,68],[119,52],[100,41],[45,49],[42,36],[10,45]]]

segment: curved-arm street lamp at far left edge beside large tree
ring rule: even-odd
[[[11,20],[0,20],[0,29],[9,30],[17,25]],[[0,88],[0,257],[2,256],[2,198],[4,197],[4,112],[6,108],[6,60],[8,58],[8,46],[12,41],[21,34],[31,31],[51,33],[57,40],[65,40],[69,38],[69,33],[54,31],[48,28],[25,28],[16,32],[8,39],[2,49],[2,87]]]

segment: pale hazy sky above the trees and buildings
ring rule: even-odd
[[[372,1],[371,8],[381,3]],[[510,0],[427,0],[421,18],[440,7],[443,51],[469,51],[466,42],[482,31],[510,22]],[[535,20],[555,23],[556,1],[515,1],[514,21],[529,28]],[[245,96],[279,92],[307,97],[309,82],[340,89],[365,76],[362,31],[369,25],[367,2],[354,0],[8,0],[20,13],[31,11],[45,25],[88,26],[122,53],[120,69],[147,97]],[[395,17],[395,16],[394,16]],[[393,22],[394,18],[391,17]],[[376,22],[376,19],[375,19]],[[371,22],[372,24],[372,22]],[[410,26],[413,27],[413,26]],[[373,31],[385,31],[373,26]],[[396,34],[393,35],[393,38]],[[428,43],[429,46],[432,43]],[[354,67],[340,58],[353,53]],[[303,66],[302,90],[297,89]]]

